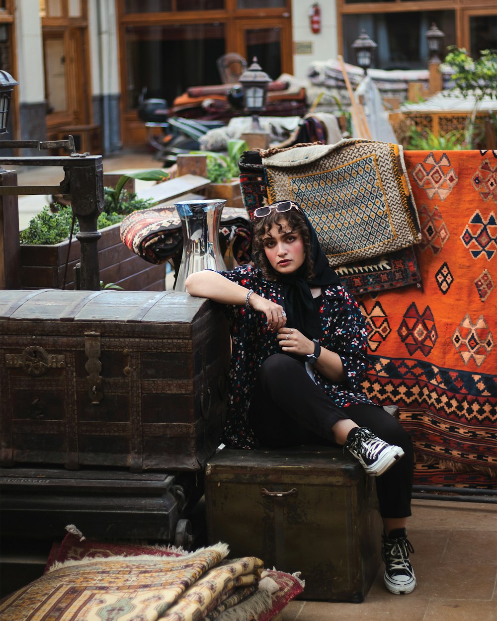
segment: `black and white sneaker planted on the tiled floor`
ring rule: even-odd
[[[409,552],[414,552],[414,548],[408,540],[406,529],[391,530],[388,537],[383,532],[381,542],[381,556],[385,563],[383,580],[386,588],[396,595],[411,593],[416,586],[416,576],[409,562]]]

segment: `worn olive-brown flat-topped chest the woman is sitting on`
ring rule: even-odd
[[[340,449],[223,449],[205,481],[209,542],[301,572],[304,599],[362,602],[380,566],[374,479]]]

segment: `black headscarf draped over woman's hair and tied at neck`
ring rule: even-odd
[[[286,325],[289,328],[299,330],[306,337],[313,339],[319,338],[321,321],[312,298],[311,287],[340,284],[340,279],[329,266],[311,222],[309,222],[308,217],[303,211],[301,213],[306,220],[309,237],[311,238],[311,259],[314,265],[314,277],[309,280],[306,279],[306,265],[304,263],[292,274],[277,274],[277,278],[283,284]]]

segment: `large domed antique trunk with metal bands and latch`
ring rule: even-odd
[[[0,291],[1,465],[202,469],[228,369],[226,320],[204,299]]]

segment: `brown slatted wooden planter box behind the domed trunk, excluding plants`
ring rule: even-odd
[[[165,263],[154,265],[125,247],[119,237],[120,224],[101,229],[98,241],[100,279],[127,291],[164,291]],[[21,244],[22,289],[62,288],[69,242],[53,245]],[[74,268],[80,262],[80,242],[73,238],[69,253],[66,289],[74,289]]]

